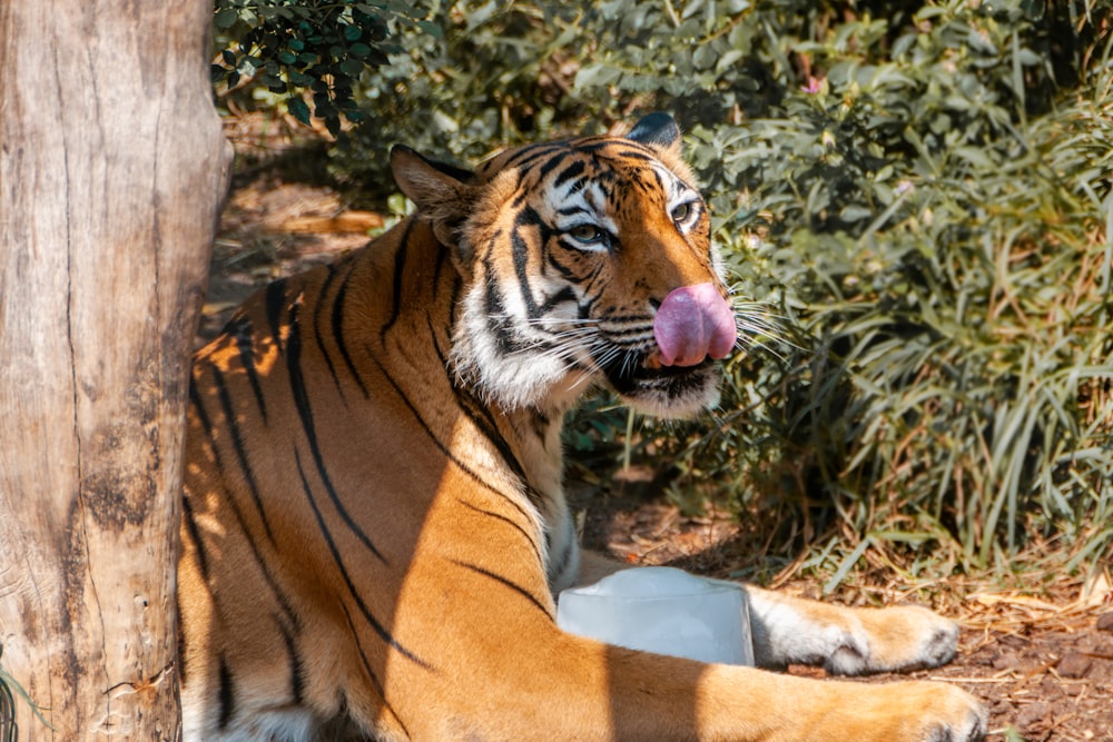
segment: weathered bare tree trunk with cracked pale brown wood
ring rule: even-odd
[[[0,666],[22,740],[179,738],[187,370],[229,152],[210,0],[0,1]]]

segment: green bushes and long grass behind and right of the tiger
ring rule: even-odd
[[[1111,554],[1110,3],[421,13],[441,31],[397,26],[398,53],[353,87],[372,115],[334,148],[338,171],[383,182],[395,141],[474,161],[670,110],[755,299],[713,416],[627,437],[598,400],[574,448],[668,461],[673,497],[769,516],[772,551],[811,550],[831,587],[863,556],[917,565],[925,545],[971,570],[1033,541],[1070,570]]]

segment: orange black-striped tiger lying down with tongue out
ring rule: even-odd
[[[415,205],[278,279],[195,354],[180,527],[184,739],[981,739],[927,609],[747,591],[757,666],[608,645],[560,592],[582,552],[561,426],[588,389],[690,417],[738,336],[708,206],[662,112],[474,169],[404,146]]]

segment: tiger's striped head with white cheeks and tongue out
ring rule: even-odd
[[[462,380],[511,409],[563,410],[603,379],[661,417],[717,402],[735,317],[671,117],[520,147],[475,172],[405,147],[391,159],[463,278]]]

